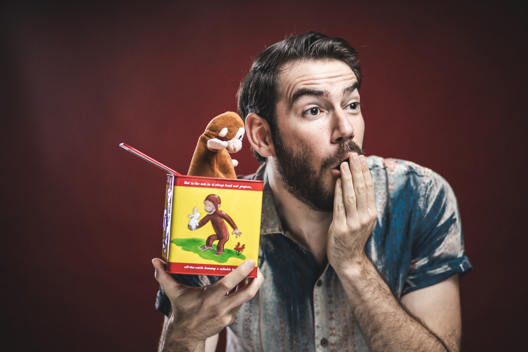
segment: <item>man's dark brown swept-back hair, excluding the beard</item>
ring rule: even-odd
[[[346,63],[361,86],[361,67],[358,53],[342,38],[332,38],[322,33],[306,32],[271,45],[262,50],[242,80],[238,90],[238,113],[244,121],[249,113],[266,119],[275,143],[277,133],[278,76],[286,63],[300,60],[336,59]],[[257,151],[253,154],[259,162],[266,161]]]

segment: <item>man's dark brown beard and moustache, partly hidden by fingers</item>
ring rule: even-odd
[[[279,131],[276,132],[274,142],[277,172],[286,189],[314,210],[333,211],[334,189],[326,188],[325,175],[331,166],[342,161],[349,153],[363,154],[361,147],[353,141],[340,143],[335,153],[323,159],[317,170],[310,158],[313,155],[311,147],[294,151],[286,145]]]

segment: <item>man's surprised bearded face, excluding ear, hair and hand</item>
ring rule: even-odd
[[[279,76],[276,168],[288,190],[318,210],[333,210],[340,164],[362,154],[356,85],[352,69],[338,60],[296,62]]]

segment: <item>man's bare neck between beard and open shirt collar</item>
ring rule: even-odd
[[[282,228],[312,252],[320,266],[326,256],[326,237],[332,213],[314,210],[295,198],[282,183],[272,159],[268,158],[266,172]]]

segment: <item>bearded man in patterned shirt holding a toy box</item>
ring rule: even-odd
[[[228,351],[459,350],[471,265],[455,196],[429,169],[362,155],[360,73],[350,44],[315,32],[255,59],[239,112],[262,162],[248,178],[265,181],[261,272],[175,281],[153,260],[161,350],[214,350],[228,325]]]

